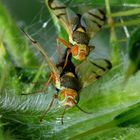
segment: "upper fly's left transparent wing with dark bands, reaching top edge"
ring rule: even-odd
[[[48,7],[54,20],[59,21],[67,33],[71,35],[74,25],[78,22],[78,16],[58,0],[48,0]]]

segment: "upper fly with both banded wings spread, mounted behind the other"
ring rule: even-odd
[[[94,46],[89,41],[102,28],[105,22],[105,14],[102,10],[91,9],[83,15],[77,14],[58,0],[48,0],[50,13],[58,20],[69,36],[69,42],[58,37],[58,41],[67,47],[67,58],[70,53],[79,61],[87,58]],[[64,65],[64,67],[65,67]]]

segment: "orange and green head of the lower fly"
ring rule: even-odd
[[[64,88],[58,95],[59,104],[66,107],[73,107],[78,102],[77,98],[77,91],[69,88]]]

